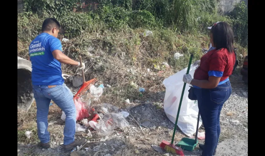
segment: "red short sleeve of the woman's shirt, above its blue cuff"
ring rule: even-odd
[[[224,72],[227,61],[225,59],[225,53],[223,51],[216,51],[210,56],[210,68],[209,71]]]

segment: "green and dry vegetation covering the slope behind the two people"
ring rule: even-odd
[[[248,53],[248,9],[244,2],[236,5],[230,16],[219,15],[215,1],[210,0],[99,0],[97,9],[84,7],[78,0],[24,0],[24,7],[17,15],[18,55],[24,58],[46,17],[61,23],[59,38],[71,39],[63,48],[74,59],[85,56],[89,46],[97,46],[108,55],[125,54],[129,65],[154,68],[166,61],[181,70],[191,53],[194,61],[203,55],[201,49],[210,44],[207,27],[217,21],[234,28],[238,53]],[[139,35],[146,30],[152,31],[153,37]],[[184,57],[175,60],[175,52]]]

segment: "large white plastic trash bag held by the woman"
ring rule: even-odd
[[[198,66],[195,66],[193,64],[190,66],[189,74],[192,77],[197,67]],[[182,78],[183,75],[186,74],[186,72],[187,68],[179,71],[172,76],[169,76],[163,81],[163,85],[166,87],[164,110],[168,119],[174,124],[176,121],[181,93],[184,85]],[[199,108],[197,101],[193,101],[188,98],[189,89],[190,85],[186,84],[177,125],[184,134],[191,137],[196,132]],[[201,124],[202,122],[200,120],[199,127],[201,126]]]

